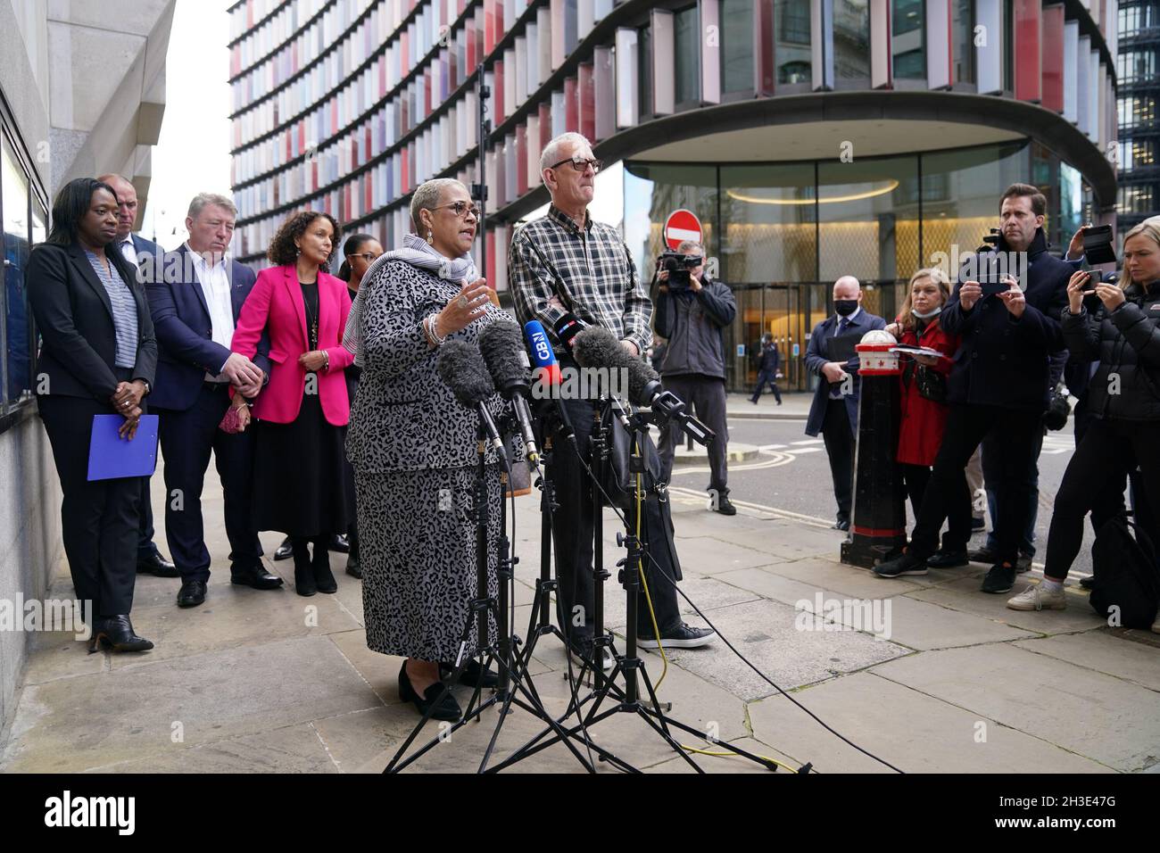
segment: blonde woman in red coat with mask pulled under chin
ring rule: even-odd
[[[947,275],[937,267],[920,269],[911,276],[911,289],[898,319],[886,327],[899,344],[934,349],[945,356],[901,356],[901,426],[896,458],[915,518],[947,428],[947,375],[958,349],[958,337],[948,334],[938,324],[938,315],[949,298]],[[970,537],[971,492],[964,472],[962,499],[951,501],[943,547],[927,561],[927,565],[935,569],[967,565],[966,543]],[[921,573],[926,573],[926,569]]]

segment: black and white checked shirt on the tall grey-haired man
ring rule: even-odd
[[[553,204],[520,227],[512,238],[508,281],[520,323],[539,320],[553,341],[557,321],[571,310],[632,341],[641,354],[652,342],[652,303],[629,248],[616,229],[593,222],[590,214],[580,229]],[[553,296],[565,308],[549,305]]]

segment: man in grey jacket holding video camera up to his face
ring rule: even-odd
[[[660,375],[665,390],[688,404],[697,418],[715,433],[709,444],[709,493],[713,509],[735,515],[728,499],[728,425],[725,421],[725,339],[722,330],[737,316],[737,301],[727,284],[705,274],[705,250],[695,240],[676,247],[657,260],[654,281],[659,284],[657,334],[665,338],[665,360]],[[666,266],[667,262],[667,266]],[[675,269],[674,269],[675,268]],[[679,424],[670,424],[660,436],[660,458],[666,480],[673,471],[673,454],[682,439]]]

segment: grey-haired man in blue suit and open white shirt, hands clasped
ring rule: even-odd
[[[230,386],[251,397],[270,369],[268,342],[259,346],[253,362],[230,352],[238,315],[256,277],[226,256],[237,214],[225,196],[195,196],[186,218],[189,240],[165,256],[161,274],[146,285],[158,340],[151,407],[161,415],[165,533],[181,572],[179,607],[202,603],[210,578],[201,505],[210,451],[225,494],[231,581],[256,590],[282,585],[282,578],[262,565],[252,522],[253,434],[218,429],[230,407]]]

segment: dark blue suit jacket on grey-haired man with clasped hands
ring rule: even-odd
[[[230,259],[233,321],[256,280],[254,270]],[[186,411],[197,399],[205,374],[217,374],[230,357],[229,347],[213,341],[209,305],[186,244],[165,255],[161,274],[145,285],[158,341],[157,383],[150,395],[154,409]],[[254,363],[270,375],[270,352],[263,335]]]

